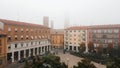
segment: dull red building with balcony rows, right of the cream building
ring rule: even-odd
[[[104,48],[108,47],[108,43],[117,47],[120,42],[120,24],[89,26],[89,41],[92,41],[95,47],[101,43]]]

